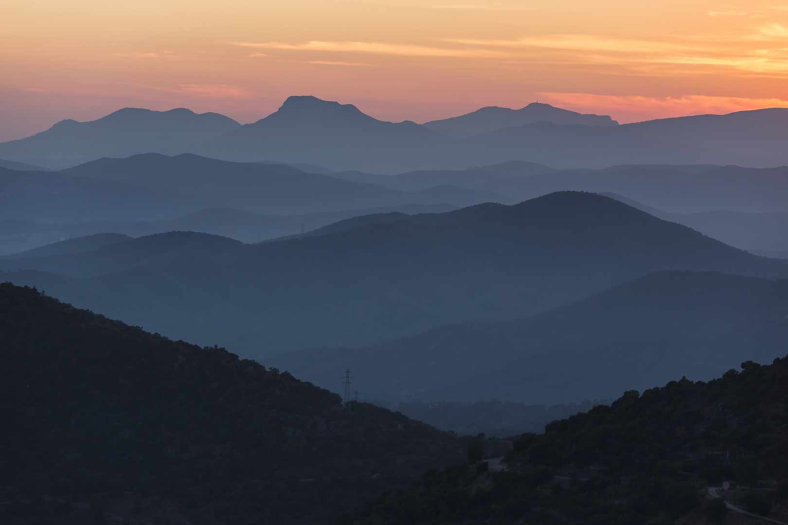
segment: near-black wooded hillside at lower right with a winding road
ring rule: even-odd
[[[522,434],[500,466],[476,463],[480,449],[470,465],[426,471],[329,523],[785,523],[788,358],[742,368],[628,391]],[[704,487],[724,480],[739,484],[725,500],[755,516],[712,501]]]

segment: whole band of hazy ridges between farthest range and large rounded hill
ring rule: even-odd
[[[103,158],[61,172],[0,168],[0,256],[59,240],[202,231],[243,242],[376,213],[435,213],[561,190],[610,194],[745,250],[788,251],[788,168],[615,165],[556,170],[507,161],[396,176],[303,172],[184,153]],[[629,199],[629,200],[627,200]]]

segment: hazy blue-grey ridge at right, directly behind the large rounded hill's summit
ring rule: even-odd
[[[523,201],[555,191],[619,194],[665,213],[728,210],[788,212],[788,167],[728,165],[614,165],[604,169],[556,170],[525,161],[466,170],[431,170],[396,176],[335,172],[331,176],[398,190],[450,184]]]

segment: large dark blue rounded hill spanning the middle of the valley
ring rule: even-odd
[[[6,279],[169,337],[223,340],[245,355],[266,355],[528,316],[665,269],[788,277],[788,261],[756,257],[596,194],[396,219],[351,220],[326,235],[216,256],[206,249],[90,278],[75,279],[88,274],[73,255],[27,265],[17,259],[6,268],[23,271]],[[162,234],[155,246],[169,253],[181,235]]]

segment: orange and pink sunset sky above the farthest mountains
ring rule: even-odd
[[[788,107],[788,0],[2,0],[0,141],[122,107],[241,123],[292,94],[423,123]]]

